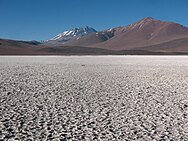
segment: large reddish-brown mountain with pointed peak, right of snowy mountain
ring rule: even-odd
[[[188,38],[188,28],[173,22],[144,18],[125,27],[92,33],[68,45],[99,47],[110,50],[130,50]]]

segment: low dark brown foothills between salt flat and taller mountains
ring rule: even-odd
[[[188,38],[135,48],[113,51],[81,46],[45,46],[30,41],[0,39],[0,55],[171,55],[188,54]]]

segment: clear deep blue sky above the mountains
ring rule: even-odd
[[[100,31],[145,17],[188,26],[188,0],[0,0],[0,38],[41,41],[75,27]]]

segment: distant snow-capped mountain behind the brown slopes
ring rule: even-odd
[[[79,39],[82,36],[85,36],[94,32],[97,32],[97,31],[94,28],[88,27],[88,26],[73,28],[71,30],[67,30],[58,34],[54,38],[47,40],[47,42],[57,41],[57,42],[65,43],[73,39]]]

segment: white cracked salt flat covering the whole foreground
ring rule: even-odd
[[[0,141],[187,141],[188,57],[0,57]]]

